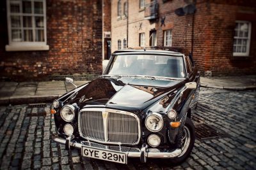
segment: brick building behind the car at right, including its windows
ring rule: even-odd
[[[183,46],[203,73],[256,73],[253,0],[113,0],[111,32],[112,52],[126,46]]]

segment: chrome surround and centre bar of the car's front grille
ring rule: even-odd
[[[102,111],[102,113],[119,113],[119,114],[124,114],[124,115],[130,115],[134,118],[136,118],[137,120],[137,124],[138,124],[138,141],[136,141],[136,143],[120,143],[120,142],[109,142],[108,140],[106,140],[107,138],[109,139],[109,136],[108,136],[108,124],[105,123],[104,125],[104,141],[99,141],[97,139],[92,139],[92,138],[86,138],[83,136],[83,132],[81,132],[81,112],[83,111]],[[106,115],[107,118],[109,117],[109,114]],[[104,119],[103,119],[104,120]],[[104,120],[108,123],[107,120]],[[89,124],[91,122],[88,122]],[[135,115],[134,113],[131,113],[131,112],[128,112],[128,111],[122,111],[122,110],[114,110],[114,109],[109,109],[109,108],[83,108],[82,110],[79,111],[78,113],[78,132],[79,132],[79,136],[81,136],[81,138],[84,138],[84,139],[87,139],[88,141],[95,141],[95,142],[98,142],[98,143],[106,143],[106,144],[110,144],[110,145],[137,145],[139,142],[140,142],[140,138],[141,138],[141,127],[140,127],[140,118],[138,118],[137,115]],[[107,130],[105,130],[107,129]],[[106,132],[107,131],[107,138],[106,138]]]

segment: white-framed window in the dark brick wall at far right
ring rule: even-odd
[[[248,21],[236,21],[233,55],[248,56],[250,52],[250,38],[252,23]]]

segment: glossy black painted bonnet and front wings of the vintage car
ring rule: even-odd
[[[108,68],[107,68],[108,69]],[[188,64],[186,64],[188,70]],[[185,83],[196,81],[199,84],[199,73],[193,67],[191,73],[188,73],[188,78],[184,80],[157,80],[148,78],[98,78],[86,85],[82,85],[77,89],[68,92],[61,96],[61,106],[72,104],[76,108],[76,116],[72,121],[75,128],[75,140],[83,141],[77,131],[78,111],[82,108],[112,108],[116,110],[124,110],[135,113],[141,120],[141,139],[137,146],[147,143],[147,136],[152,134],[145,128],[145,117],[147,114],[157,112],[163,115],[164,127],[157,132],[161,136],[161,145],[157,148],[172,148],[177,138],[179,128],[170,127],[171,121],[180,121],[189,114],[189,111],[182,111],[184,104],[189,103],[189,99],[193,96],[195,90],[185,90],[180,96],[180,92],[184,89]],[[153,90],[152,92],[148,89]],[[60,108],[61,108],[60,106]],[[63,138],[63,126],[67,123],[60,117],[60,108],[57,108],[57,113],[54,115],[56,127]],[[166,113],[172,108],[176,110],[179,117],[175,120],[170,120]],[[190,115],[188,115],[190,117]],[[184,122],[184,120],[183,120]]]

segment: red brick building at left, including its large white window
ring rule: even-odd
[[[0,8],[2,78],[51,80],[102,73],[101,0],[4,0]]]

